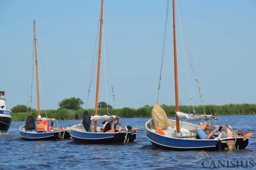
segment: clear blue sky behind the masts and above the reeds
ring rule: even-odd
[[[113,103],[108,83],[108,102],[115,108],[153,106],[157,100],[167,1],[105,0],[104,3],[117,98]],[[79,97],[86,103],[100,4],[100,0],[0,1],[0,90],[5,91],[8,108],[27,103],[33,20],[36,20],[45,108],[57,109],[59,101],[70,97]],[[256,1],[182,0],[181,5],[204,104],[255,103]],[[184,68],[184,57],[178,19],[176,24],[181,103],[191,105],[186,77],[182,78],[184,70],[180,70]],[[168,30],[159,104],[175,105],[173,35],[172,28]],[[190,85],[193,103],[200,105],[193,77]],[[32,107],[36,108],[34,90]],[[94,83],[87,108],[95,107],[95,93]],[[104,94],[99,101],[106,101]],[[42,98],[40,101],[43,108]]]

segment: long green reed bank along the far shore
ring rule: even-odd
[[[256,104],[226,104],[226,105],[205,105],[205,114],[207,115],[255,115]],[[121,109],[109,109],[110,115],[116,115],[121,118],[147,118],[151,117],[152,107],[141,107],[139,109],[133,109],[124,107]],[[180,106],[180,110],[184,113],[193,113],[192,106]],[[204,114],[203,106],[194,106],[197,114]],[[175,117],[175,106],[163,107],[168,117]],[[82,119],[85,109],[73,111],[70,109],[50,110],[47,111],[48,118],[55,118],[57,120],[75,120]],[[87,109],[90,115],[94,115],[94,109]],[[106,108],[98,110],[98,115],[106,115],[108,113]],[[44,112],[41,116],[46,117]],[[29,113],[13,113],[12,121],[25,121],[29,116]],[[37,118],[37,113],[31,114],[34,119]]]

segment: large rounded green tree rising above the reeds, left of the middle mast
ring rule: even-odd
[[[80,98],[71,97],[68,99],[64,99],[61,102],[58,102],[58,109],[72,109],[78,110],[82,109],[82,105],[84,102]]]

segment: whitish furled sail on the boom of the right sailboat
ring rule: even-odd
[[[176,115],[182,119],[186,118],[187,120],[190,121],[196,121],[196,120],[219,120],[219,118],[214,117],[212,115],[199,115],[199,114],[192,114],[192,113],[182,113],[182,112],[176,112]]]

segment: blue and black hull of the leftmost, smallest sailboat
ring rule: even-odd
[[[24,129],[24,125],[20,127],[19,136],[25,141],[69,139],[71,137],[70,132],[67,131],[31,133],[25,132]]]

